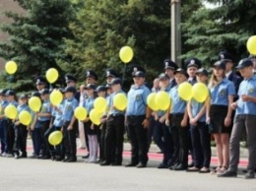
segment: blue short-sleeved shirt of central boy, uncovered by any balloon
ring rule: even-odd
[[[151,91],[145,86],[133,85],[128,93],[128,105],[126,115],[145,115],[147,108],[147,97]]]

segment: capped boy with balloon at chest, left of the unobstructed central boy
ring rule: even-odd
[[[109,112],[106,119],[105,132],[105,161],[101,165],[121,165],[123,154],[124,136],[124,111],[118,110],[113,105],[114,96],[125,93],[121,89],[122,81],[119,78],[111,82],[113,93],[108,98]]]

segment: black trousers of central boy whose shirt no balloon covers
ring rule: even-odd
[[[148,129],[142,125],[145,115],[127,117],[127,125],[132,145],[132,163],[147,164],[148,158]]]

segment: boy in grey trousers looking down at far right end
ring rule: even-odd
[[[244,129],[247,132],[248,165],[246,179],[255,178],[256,166],[256,76],[253,75],[253,63],[250,59],[242,59],[236,67],[244,78],[239,90],[238,100],[231,104],[236,109],[233,129],[230,137],[229,167],[219,177],[236,177],[239,163],[240,138]]]

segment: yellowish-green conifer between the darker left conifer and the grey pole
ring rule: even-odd
[[[128,44],[135,52],[132,63],[144,66],[152,77],[162,70],[162,61],[170,52],[170,1],[83,2],[77,11],[76,22],[71,24],[75,38],[66,40],[66,53],[72,56],[73,65],[62,62],[63,68],[73,71],[81,80],[81,71],[88,68],[98,73],[107,67],[121,72],[124,64],[118,52]],[[200,5],[199,1],[182,2],[184,19]]]

